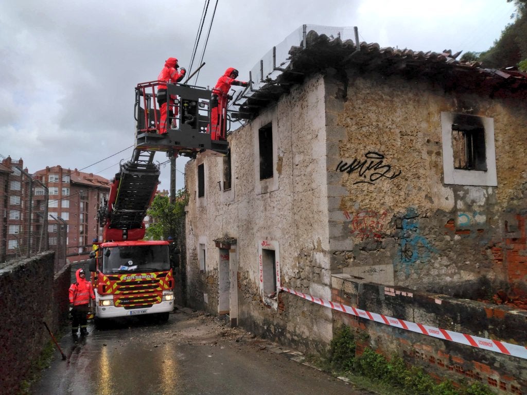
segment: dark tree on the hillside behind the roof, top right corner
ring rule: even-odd
[[[514,22],[507,25],[499,40],[488,51],[482,52],[478,61],[486,68],[502,68],[524,65],[527,60],[527,0],[514,1]]]

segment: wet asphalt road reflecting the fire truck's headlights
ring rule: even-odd
[[[276,344],[187,309],[169,322],[116,321],[86,338],[65,335],[33,395],[288,395],[368,392],[291,357]]]

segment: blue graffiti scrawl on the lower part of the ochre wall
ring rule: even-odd
[[[408,209],[402,220],[402,237],[399,244],[399,258],[404,266],[406,274],[409,274],[411,266],[416,262],[430,260],[434,247],[419,231],[417,214],[413,209]]]

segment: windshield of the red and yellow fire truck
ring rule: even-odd
[[[168,245],[131,245],[105,248],[103,273],[170,270]]]

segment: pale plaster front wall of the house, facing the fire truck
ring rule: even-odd
[[[232,189],[221,191],[222,159],[201,157],[186,167],[191,202],[187,215],[189,302],[198,307],[208,294],[212,313],[218,298],[219,252],[213,240],[237,239],[239,323],[249,330],[324,347],[331,338],[331,314],[280,294],[277,308],[263,303],[259,246],[278,246],[282,285],[317,297],[330,296],[327,227],[324,83],[308,80],[229,137]],[[258,131],[272,123],[274,177],[259,179]],[[205,165],[206,196],[198,198],[197,166]],[[266,192],[267,191],[267,192]],[[198,244],[206,240],[206,273],[199,273]],[[316,345],[313,340],[316,339]]]

